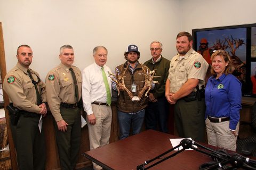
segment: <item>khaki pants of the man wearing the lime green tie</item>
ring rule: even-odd
[[[108,144],[112,120],[111,106],[92,104],[92,111],[96,117],[96,123],[94,125],[87,123],[91,150]],[[86,121],[89,122],[87,116]],[[102,169],[102,167],[93,163],[93,169]]]

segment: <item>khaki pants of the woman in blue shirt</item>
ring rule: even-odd
[[[239,122],[236,125],[236,136],[229,130],[229,121],[213,123],[206,118],[205,124],[209,145],[236,151]]]

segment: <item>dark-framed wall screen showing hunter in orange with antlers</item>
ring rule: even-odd
[[[256,23],[193,29],[193,48],[211,65],[214,50],[229,53],[243,96],[256,97]]]

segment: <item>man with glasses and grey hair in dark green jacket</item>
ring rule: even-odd
[[[165,83],[169,74],[170,61],[162,56],[163,45],[159,41],[153,41],[150,44],[152,58],[144,64],[151,71],[155,70],[155,89],[148,93],[148,107],[146,108],[145,123],[146,129],[168,132],[167,121],[169,114],[169,103],[165,98]]]

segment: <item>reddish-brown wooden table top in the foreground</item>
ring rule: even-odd
[[[131,170],[136,169],[145,160],[152,159],[171,149],[171,138],[178,137],[147,130],[124,140],[87,151],[83,155],[104,169]],[[172,151],[171,154],[173,152],[176,151]],[[187,150],[150,169],[198,169],[201,164],[211,160],[209,156],[200,152]]]

